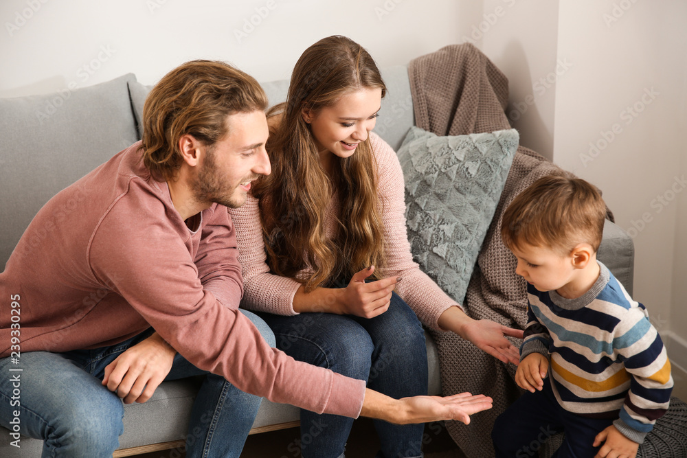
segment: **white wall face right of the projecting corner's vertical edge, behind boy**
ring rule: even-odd
[[[686,19],[682,0],[561,1],[559,56],[577,64],[556,86],[554,129],[554,161],[598,185],[633,237],[635,299],[660,332],[683,336]]]

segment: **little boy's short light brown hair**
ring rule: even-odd
[[[502,218],[501,237],[508,249],[528,244],[567,255],[588,243],[596,253],[605,218],[606,204],[594,185],[548,175],[513,199]]]

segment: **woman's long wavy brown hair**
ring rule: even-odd
[[[350,278],[370,265],[377,273],[384,265],[381,203],[369,137],[352,156],[335,161],[330,177],[320,166],[311,126],[302,115],[304,109],[317,114],[363,88],[381,88],[382,97],[386,93],[374,60],[350,38],[330,36],[304,51],[291,74],[286,102],[267,114],[282,115],[267,141],[272,173],[254,187],[267,262],[273,273],[296,279],[306,291]],[[340,213],[336,235],[328,240],[324,222],[334,192]],[[312,273],[299,275],[307,267]]]

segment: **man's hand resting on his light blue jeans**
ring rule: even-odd
[[[102,385],[124,404],[146,402],[172,369],[177,352],[155,332],[105,367]]]

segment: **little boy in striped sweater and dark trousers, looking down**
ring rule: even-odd
[[[526,392],[495,423],[497,457],[635,457],[668,409],[671,363],[644,306],[596,260],[605,204],[581,179],[545,176],[510,204],[502,238],[528,282],[515,382]]]

